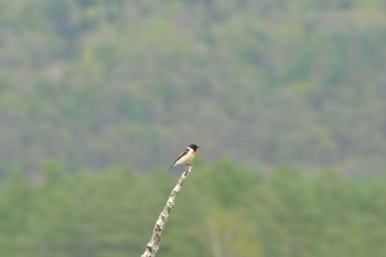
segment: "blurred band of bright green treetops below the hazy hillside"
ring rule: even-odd
[[[139,256],[176,176],[111,167],[67,173],[45,163],[32,182],[0,186],[4,256]],[[159,256],[375,256],[386,250],[385,178],[258,175],[223,160],[196,164],[176,199]]]

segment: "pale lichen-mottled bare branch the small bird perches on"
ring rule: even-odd
[[[178,193],[180,192],[183,182],[185,181],[187,175],[192,172],[192,170],[193,170],[192,165],[187,167],[187,169],[182,173],[179,181],[176,182],[176,185],[174,186],[174,189],[170,193],[168,202],[164,205],[160,215],[158,216],[158,219],[154,224],[153,234],[151,235],[151,238],[150,238],[150,240],[144,249],[144,253],[141,255],[141,257],[154,257],[156,256],[158,249],[160,248],[162,232],[167,226],[170,212],[172,211],[172,208],[174,206],[175,197],[176,197]]]

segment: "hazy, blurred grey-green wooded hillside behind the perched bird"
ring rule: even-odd
[[[384,171],[384,1],[7,1],[1,173],[207,161]]]

